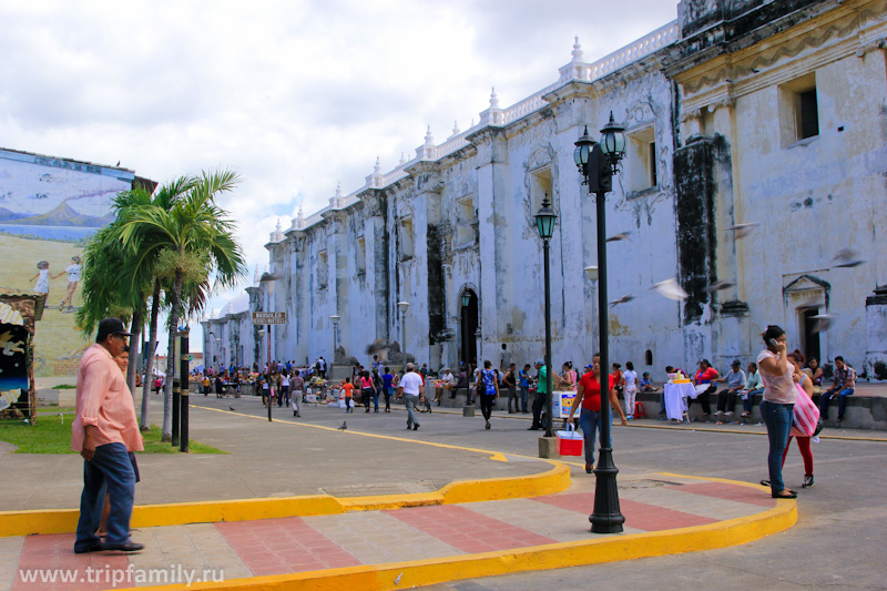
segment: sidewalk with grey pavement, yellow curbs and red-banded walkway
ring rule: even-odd
[[[177,589],[200,578],[217,582],[192,589],[404,589],[735,546],[787,529],[797,519],[794,501],[771,499],[758,486],[623,469],[619,486],[625,531],[593,534],[588,516],[595,479],[580,462],[552,466],[460,448],[452,439],[421,430],[410,431],[410,438],[358,431],[361,420],[390,421],[399,431],[402,412],[348,415],[353,427],[343,432],[335,426],[344,416],[326,409],[305,409],[300,422],[268,424],[259,416],[261,403],[236,405],[243,412],[197,407],[191,412],[193,437],[231,456],[140,456],[140,466],[145,466],[145,481],[137,485],[146,489],[140,491],[142,498],[166,503],[187,498],[191,503],[150,508],[137,501],[142,522],[134,519],[133,539],[145,543],[145,551],[74,554],[71,511],[63,511],[65,517],[37,510],[27,513],[29,522],[67,522],[68,529],[61,530],[67,532],[0,538],[0,588]],[[446,427],[447,419],[441,419],[438,425]],[[8,471],[19,458],[24,461],[19,469],[49,473],[37,481],[3,479],[4,509],[75,505],[77,478],[51,485],[69,471],[79,477],[82,463],[75,456],[7,454],[0,456],[0,469],[20,473]],[[328,473],[330,466],[336,470]],[[569,488],[565,466],[572,476]],[[277,472],[282,469],[284,475]],[[47,490],[29,490],[23,482],[39,482]],[[73,495],[65,490],[71,486]],[[411,486],[420,490],[408,491]],[[235,493],[246,488],[257,493],[237,497],[228,487]],[[305,492],[293,497],[294,489]],[[284,492],[287,498],[281,498]],[[305,495],[330,502],[305,511]],[[220,511],[216,518],[201,512],[213,508]],[[282,508],[289,512],[274,514]],[[171,514],[180,524],[162,526]],[[11,517],[0,516],[0,521]],[[65,583],[23,579],[74,575],[72,569],[77,579]]]

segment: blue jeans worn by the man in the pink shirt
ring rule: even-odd
[[[123,444],[99,446],[92,459],[83,462],[83,493],[80,496],[74,550],[86,550],[101,541],[95,530],[102,519],[105,491],[111,496],[105,542],[128,542],[135,498],[135,472]]]

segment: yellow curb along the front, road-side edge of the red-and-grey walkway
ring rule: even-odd
[[[738,483],[727,480],[731,483]],[[521,548],[481,554],[455,556],[434,560],[349,567],[294,574],[255,577],[214,583],[192,583],[187,589],[227,589],[244,591],[277,590],[392,590],[477,579],[517,572],[540,571],[616,562],[636,558],[661,557],[740,546],[784,531],[797,522],[797,505],[778,500],[764,512],[696,526],[648,533],[601,536],[593,539]],[[186,589],[185,585],[139,588],[155,590]]]

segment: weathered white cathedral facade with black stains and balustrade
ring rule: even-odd
[[[665,365],[789,348],[887,357],[887,1],[683,0],[677,20],[597,62],[577,41],[546,89],[277,227],[268,274],[204,320],[211,365],[367,360],[432,368],[542,357],[548,195],[553,363],[597,349],[594,200],[573,162],[612,112],[626,154],[608,194],[610,356]],[[651,289],[674,278],[687,297]],[[621,296],[631,297],[621,297]],[[268,335],[249,312],[286,312]],[[236,329],[235,346],[232,334]],[[262,330],[259,333],[259,330]],[[212,335],[211,335],[212,333]],[[268,343],[268,339],[271,343]],[[335,350],[337,351],[334,354]],[[887,377],[887,376],[885,376]]]

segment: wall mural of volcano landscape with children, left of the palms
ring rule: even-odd
[[[80,255],[113,220],[111,202],[132,171],[0,149],[0,293],[45,293],[34,376],[74,376],[89,347],[74,327],[82,304]]]

